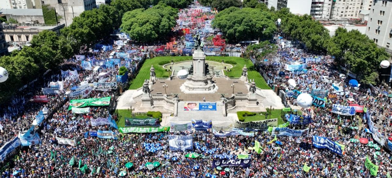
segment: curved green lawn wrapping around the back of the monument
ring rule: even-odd
[[[151,65],[153,65],[155,68],[156,77],[162,78],[163,76],[171,76],[171,72],[167,72],[166,69],[159,65],[158,63],[160,61],[173,60],[174,62],[180,62],[191,59],[192,56],[161,56],[152,59],[146,59],[136,78],[130,82],[129,89],[134,90],[143,86],[144,80],[150,78]],[[231,68],[231,72],[225,72],[225,75],[229,77],[241,77],[242,68],[246,64],[248,68],[248,79],[254,79],[254,81],[256,82],[256,86],[261,89],[271,89],[265,82],[264,78],[257,71],[254,70],[253,63],[249,59],[238,57],[207,56],[206,60],[216,62],[221,62],[222,60],[235,61],[237,64],[233,65],[233,68]]]

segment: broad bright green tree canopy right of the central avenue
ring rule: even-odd
[[[274,15],[261,9],[229,7],[215,16],[213,27],[229,41],[266,40],[276,32]]]

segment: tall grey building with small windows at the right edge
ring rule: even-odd
[[[365,34],[392,54],[392,0],[376,0],[370,9]]]

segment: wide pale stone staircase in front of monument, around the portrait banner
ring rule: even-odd
[[[229,126],[233,123],[231,117],[223,116],[222,102],[216,102],[216,111],[184,111],[184,105],[185,102],[178,102],[177,117],[171,117],[165,125],[170,126],[171,122],[185,124],[192,119],[212,120],[212,125],[215,126]]]

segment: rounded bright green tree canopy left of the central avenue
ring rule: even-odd
[[[177,12],[165,4],[147,10],[135,9],[124,14],[121,28],[132,40],[152,42],[163,39],[176,25]]]

